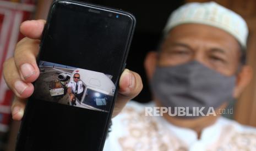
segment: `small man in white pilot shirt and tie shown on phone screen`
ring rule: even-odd
[[[73,81],[70,80],[70,82],[68,83],[68,94],[72,106],[77,105],[77,103],[75,103],[75,98],[78,98],[78,100],[81,101],[81,97],[83,96],[83,83],[79,79],[80,74],[75,73],[73,75]]]

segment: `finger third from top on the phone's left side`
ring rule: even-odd
[[[32,95],[34,86],[21,80],[13,57],[4,62],[3,75],[7,85],[17,97],[27,98]]]

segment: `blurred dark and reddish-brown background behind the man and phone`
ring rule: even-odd
[[[143,79],[144,89],[134,98],[138,102],[149,102],[151,94],[148,79],[144,71],[146,53],[156,50],[161,38],[162,29],[170,13],[179,5],[191,1],[117,1],[90,0],[85,1],[108,7],[130,11],[137,19],[133,42],[127,60],[127,68],[138,72]],[[236,11],[246,19],[249,26],[247,63],[256,71],[256,1],[254,0],[218,0],[217,3]],[[52,0],[0,0],[0,151],[14,150],[19,122],[10,117],[10,104],[13,94],[4,83],[2,67],[4,60],[13,55],[15,44],[23,38],[19,32],[20,23],[31,19],[46,19]],[[234,114],[229,118],[239,123],[256,126],[256,77],[243,92],[242,96],[230,107]]]

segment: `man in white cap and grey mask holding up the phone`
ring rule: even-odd
[[[255,129],[218,114],[228,101],[241,94],[252,76],[252,69],[244,65],[247,34],[246,23],[239,15],[214,2],[189,3],[178,8],[167,22],[160,49],[146,56],[145,68],[154,103],[129,102],[113,118],[105,150],[252,150]],[[6,68],[13,65],[16,68],[15,65],[21,64],[18,59],[9,60]],[[135,80],[124,89],[126,72],[121,77],[119,92],[129,96],[141,83]],[[8,76],[11,73],[14,74],[6,69],[4,74],[15,92],[15,79]],[[25,98],[28,91],[29,87],[18,95]],[[115,109],[122,108],[120,98],[122,95]],[[22,117],[23,108],[15,112],[15,107],[24,104],[21,102],[13,104],[14,119]],[[149,112],[146,116],[145,111],[154,107],[181,107],[188,112],[185,115],[164,112],[163,116],[154,113],[151,116]],[[200,108],[195,110],[200,114],[192,114],[194,107]]]

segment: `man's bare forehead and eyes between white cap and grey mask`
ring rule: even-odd
[[[159,53],[159,66],[199,61],[224,75],[237,72],[241,51],[237,40],[216,27],[184,24],[173,28]]]

